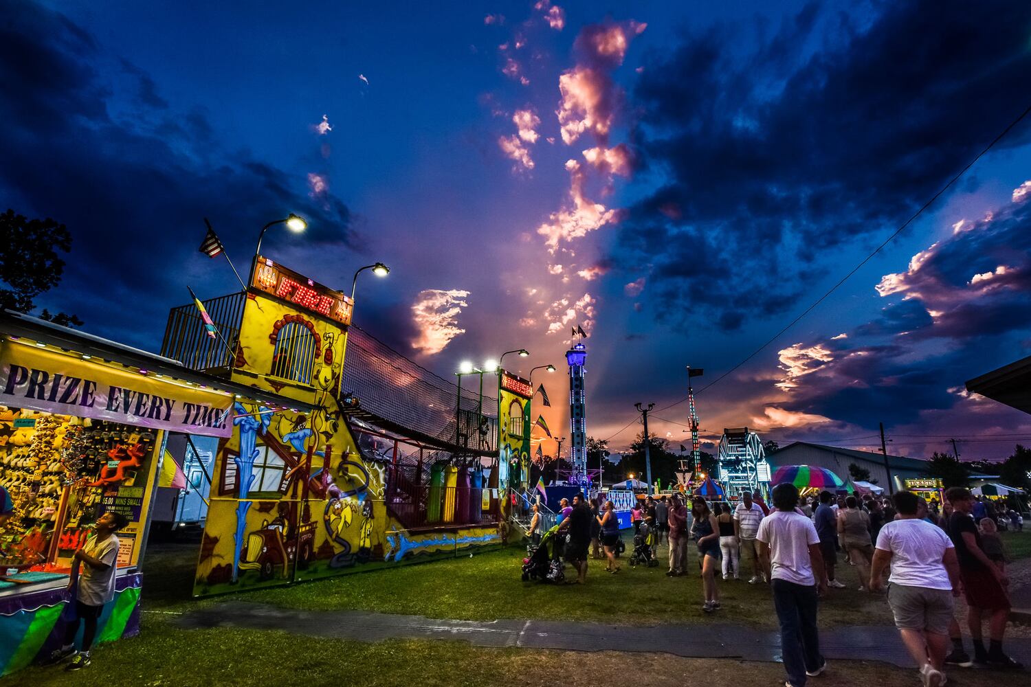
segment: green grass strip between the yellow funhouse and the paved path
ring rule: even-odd
[[[665,553],[665,546],[659,554]],[[694,552],[693,552],[694,553]],[[185,555],[186,554],[186,555]],[[590,620],[616,624],[711,622],[701,610],[701,580],[692,555],[691,575],[667,578],[665,568],[631,568],[621,558],[618,575],[592,560],[588,584],[551,585],[523,582],[524,551],[516,548],[393,570],[343,575],[318,582],[247,591],[198,602],[191,599],[193,552],[182,548],[152,549],[144,571],[143,608],[187,611],[196,604],[232,598],[313,611],[361,609],[430,618],[495,620],[539,618]],[[856,569],[838,566],[849,589],[831,590],[821,607],[821,625],[888,624],[891,615],[880,595],[857,590]],[[744,581],[720,581],[722,622],[774,627],[769,588]]]

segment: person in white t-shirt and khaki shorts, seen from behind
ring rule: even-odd
[[[888,605],[895,626],[920,666],[924,685],[940,687],[945,682],[941,668],[949,651],[953,596],[960,593],[960,565],[949,535],[921,519],[920,501],[911,491],[892,496],[898,519],[886,523],[877,535],[870,590],[882,586],[885,566],[891,563]]]

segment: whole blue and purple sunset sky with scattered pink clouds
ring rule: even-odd
[[[731,370],[1031,105],[1011,1],[0,0],[0,209],[73,236],[40,308],[157,350],[187,284],[236,287],[203,217],[245,271],[297,212],[265,254],[344,290],[390,265],[356,322],[443,376],[555,364],[552,427],[581,325],[617,449],[635,402],[689,443],[685,366]],[[699,393],[702,427],[1004,457],[1031,417],[963,383],[1031,354],[1029,297],[1031,117]]]

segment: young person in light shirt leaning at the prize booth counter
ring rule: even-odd
[[[128,523],[128,518],[122,513],[104,513],[94,524],[94,536],[72,557],[68,588],[74,591],[75,619],[65,628],[64,646],[52,656],[53,660],[60,661],[74,654],[66,671],[79,671],[90,664],[90,650],[97,637],[97,620],[104,604],[114,598],[119,557],[119,538],[114,533]],[[79,620],[86,626],[82,629],[82,649],[75,653]]]

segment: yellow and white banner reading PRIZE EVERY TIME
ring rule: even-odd
[[[25,344],[0,349],[0,405],[228,437],[233,399]]]

